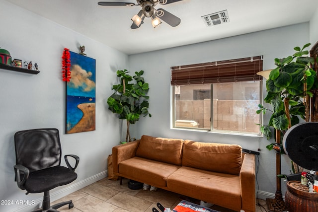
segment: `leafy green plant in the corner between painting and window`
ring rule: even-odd
[[[127,70],[118,70],[117,76],[120,78],[120,84],[115,84],[112,90],[115,92],[108,97],[108,109],[116,113],[119,119],[126,119],[127,133],[126,141],[130,141],[130,124],[135,124],[141,115],[151,117],[148,111],[149,84],[145,82],[144,71],[135,72],[132,76]]]

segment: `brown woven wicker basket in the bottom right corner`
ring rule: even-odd
[[[289,212],[318,212],[318,193],[309,193],[299,181],[288,181],[285,204]]]

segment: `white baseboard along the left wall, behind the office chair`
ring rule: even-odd
[[[91,176],[87,179],[84,179],[84,180],[81,180],[75,184],[72,184],[70,186],[65,186],[65,188],[63,189],[60,189],[56,192],[50,192],[50,200],[51,202],[54,202],[58,199],[61,199],[62,197],[65,197],[66,195],[69,195],[73,192],[76,192],[78,191],[79,189],[82,189],[98,180],[101,180],[103,178],[105,178],[106,176],[108,176],[108,171],[103,171],[103,172],[100,172],[94,176]],[[30,194],[32,195],[32,194]],[[30,211],[33,211],[37,208],[40,208],[41,205],[42,205],[42,201],[43,199],[42,198],[39,198],[37,200],[35,200],[35,204],[31,205],[31,206],[25,206],[25,207],[22,207],[22,208],[19,208],[19,209],[15,209],[13,211],[9,211],[9,212],[30,212]]]

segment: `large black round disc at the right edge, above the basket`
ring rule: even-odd
[[[318,122],[305,122],[291,127],[283,137],[286,154],[297,165],[318,170]]]

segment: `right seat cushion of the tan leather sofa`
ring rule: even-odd
[[[167,187],[169,191],[235,211],[241,208],[237,175],[182,166],[168,177]]]

